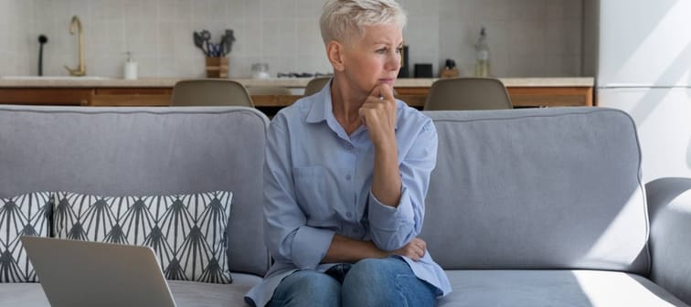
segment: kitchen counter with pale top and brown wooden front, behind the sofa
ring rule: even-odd
[[[500,78],[515,107],[592,106],[595,80],[584,78]],[[98,77],[0,77],[0,103],[167,106],[178,78],[136,80]],[[291,95],[253,95],[254,105],[267,113],[299,100],[310,78],[235,79],[246,87],[278,86]],[[422,109],[437,79],[398,79],[397,98]]]

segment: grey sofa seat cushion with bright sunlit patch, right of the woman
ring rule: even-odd
[[[688,306],[635,274],[604,270],[447,270],[450,306]]]

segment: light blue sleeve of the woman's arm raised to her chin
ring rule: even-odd
[[[422,229],[425,196],[430,185],[431,171],[437,161],[437,131],[430,119],[414,135],[401,137],[410,146],[400,159],[401,193],[399,206],[386,206],[369,192],[369,223],[372,239],[379,249],[394,250],[408,244]],[[401,142],[399,142],[401,143]]]

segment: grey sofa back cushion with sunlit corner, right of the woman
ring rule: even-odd
[[[444,269],[646,274],[641,153],[622,111],[428,111],[439,133],[421,238]]]

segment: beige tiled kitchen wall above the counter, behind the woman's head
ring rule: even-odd
[[[452,58],[471,75],[480,28],[486,26],[498,77],[580,76],[583,0],[400,0],[409,13],[409,61]],[[78,63],[71,16],[84,28],[87,73],[122,77],[125,51],[139,76],[201,77],[204,55],[192,32],[236,41],[230,76],[250,76],[252,63],[277,72],[328,72],[318,19],[324,0],[0,0],[0,75],[36,75],[39,34],[48,36],[44,74],[66,75]]]

